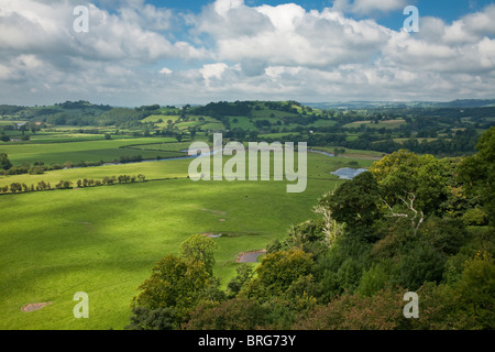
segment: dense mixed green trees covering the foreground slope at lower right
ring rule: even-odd
[[[153,268],[128,329],[494,329],[495,128],[469,157],[407,151],[326,194],[227,289],[194,235]],[[404,295],[419,296],[419,318]]]

